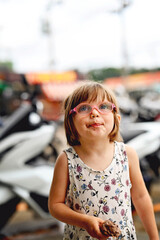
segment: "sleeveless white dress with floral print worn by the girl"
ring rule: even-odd
[[[66,204],[73,210],[110,219],[121,229],[121,240],[136,240],[132,219],[128,158],[124,143],[114,142],[114,157],[103,171],[88,167],[73,147],[65,150],[69,168]],[[66,224],[64,240],[92,240],[86,230]],[[115,238],[108,238],[112,240]]]

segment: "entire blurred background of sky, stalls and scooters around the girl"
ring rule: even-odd
[[[160,231],[159,11],[159,0],[0,0],[0,239],[62,239],[47,199],[67,145],[62,103],[86,80],[117,96]]]

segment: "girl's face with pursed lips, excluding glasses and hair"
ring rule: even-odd
[[[102,102],[108,102],[108,100]],[[114,126],[113,112],[103,112],[105,106],[102,105],[101,107],[99,105],[101,102],[97,100],[94,102],[85,101],[85,103],[89,103],[92,106],[92,110],[88,114],[79,114],[77,112],[73,117],[79,141],[97,140],[99,138],[106,139]],[[93,106],[98,106],[98,108],[94,108]]]

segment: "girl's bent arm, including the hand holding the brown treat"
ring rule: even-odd
[[[99,228],[100,224],[104,222],[102,219],[78,213],[65,204],[68,184],[68,161],[66,154],[62,153],[58,157],[54,168],[54,176],[48,200],[49,211],[59,221],[84,228],[92,237],[103,239],[104,235],[100,232]]]

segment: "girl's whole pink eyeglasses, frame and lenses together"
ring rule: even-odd
[[[94,106],[89,103],[80,103],[75,108],[71,109],[69,114],[78,113],[80,115],[87,115],[90,114],[93,109],[96,109],[101,114],[108,114],[113,110],[116,111],[116,106],[110,102],[101,102]]]

